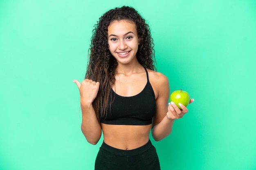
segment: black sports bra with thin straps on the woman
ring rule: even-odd
[[[135,96],[119,96],[113,89],[111,90],[112,105],[110,107],[110,96],[107,114],[100,119],[101,123],[119,125],[148,125],[152,123],[156,111],[155,93],[149,82],[147,70],[146,74],[147,84]]]

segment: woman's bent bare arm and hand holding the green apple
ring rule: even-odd
[[[152,124],[152,136],[155,141],[162,140],[170,135],[174,120],[182,118],[188,112],[184,105],[180,106],[182,110],[173,102],[167,106],[170,95],[169,81],[163,74],[158,77],[155,86],[158,94],[156,98],[156,113]],[[191,99],[190,103],[193,101]]]

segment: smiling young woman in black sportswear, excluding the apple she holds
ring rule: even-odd
[[[74,80],[85,138],[97,144],[103,132],[95,170],[159,170],[150,129],[162,140],[188,112],[167,105],[169,82],[155,71],[153,46],[148,24],[131,7],[112,9],[95,25],[85,80]]]

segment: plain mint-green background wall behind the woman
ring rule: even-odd
[[[135,7],[157,70],[195,102],[157,148],[162,170],[256,170],[255,0],[0,0],[0,170],[92,170],[79,92],[93,25]]]

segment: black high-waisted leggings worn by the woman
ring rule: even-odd
[[[133,150],[113,148],[103,142],[96,157],[95,170],[160,170],[160,164],[150,140]]]

